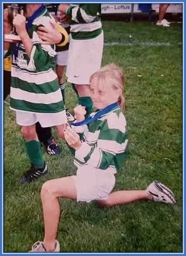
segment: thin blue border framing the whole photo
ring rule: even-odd
[[[0,89],[0,103],[1,103],[1,111],[0,111],[0,133],[1,133],[1,140],[0,140],[0,151],[1,151],[1,158],[0,158],[0,167],[1,167],[1,197],[0,197],[0,208],[1,208],[1,211],[0,211],[0,227],[1,227],[1,239],[0,239],[0,255],[28,255],[26,253],[3,253],[3,36],[2,36],[2,33],[3,33],[3,18],[2,18],[2,13],[3,13],[3,3],[17,3],[17,1],[8,1],[8,0],[0,0],[0,6],[1,6],[1,40],[0,40],[0,46],[1,46],[1,62],[0,62],[0,65],[1,65],[1,89]],[[25,1],[18,1],[18,2],[24,2]],[[41,2],[39,0],[30,0],[30,1],[26,1],[26,2]],[[44,3],[50,3],[51,0],[46,0],[46,1],[42,1]],[[59,0],[56,0],[54,1],[53,3],[57,3],[57,2],[62,2],[62,1],[59,1]],[[65,3],[72,3],[72,2],[77,2],[75,0],[67,0],[65,1]],[[186,160],[184,158],[185,156],[185,136],[184,136],[184,130],[185,130],[185,102],[184,102],[184,99],[185,99],[185,89],[184,89],[184,73],[185,73],[185,63],[184,63],[184,60],[185,60],[185,51],[184,51],[184,48],[185,48],[185,41],[184,41],[184,25],[186,24],[186,17],[185,17],[185,13],[186,13],[186,4],[185,4],[185,0],[183,1],[178,1],[178,0],[169,0],[169,1],[163,1],[163,0],[159,0],[159,1],[155,1],[155,0],[151,0],[151,1],[143,1],[143,0],[138,0],[138,1],[134,1],[134,0],[131,0],[131,1],[117,1],[117,0],[100,0],[100,1],[97,1],[97,0],[94,0],[94,1],[86,1],[86,0],[80,0],[78,2],[90,2],[90,3],[94,3],[94,2],[98,2],[98,3],[183,3],[183,253],[117,253],[118,255],[122,254],[122,255],[158,255],[158,254],[166,254],[166,255],[185,255],[185,229],[184,229],[184,226],[185,226],[185,211],[184,211],[184,198],[185,198],[185,189],[184,189],[184,181],[185,181],[185,175],[184,175],[184,167],[185,167],[185,163],[186,163]],[[176,57],[176,56],[175,56]],[[62,253],[60,253],[62,254]],[[64,253],[62,255],[70,255],[70,254],[73,254],[73,255],[85,255],[86,253]],[[90,253],[89,253],[90,254]],[[101,254],[101,253],[91,253],[91,255],[98,255],[98,254]],[[102,253],[103,255],[113,255],[113,253]],[[30,255],[30,254],[29,254]],[[56,254],[49,254],[49,255],[56,255]],[[88,253],[86,254],[88,255]],[[115,255],[115,254],[114,254]]]

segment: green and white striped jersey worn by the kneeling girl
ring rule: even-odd
[[[125,116],[119,106],[94,122],[73,129],[83,141],[75,152],[75,166],[89,165],[114,173],[121,168],[127,157],[128,137]]]

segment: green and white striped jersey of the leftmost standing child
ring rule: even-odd
[[[23,44],[14,45],[11,68],[10,107],[33,113],[57,113],[64,110],[61,91],[55,73],[54,46],[43,45],[36,33],[39,26],[51,26],[47,8],[28,29],[33,47],[27,55]]]

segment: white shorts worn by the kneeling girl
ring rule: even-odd
[[[115,185],[115,176],[111,171],[104,171],[90,166],[79,167],[72,176],[77,191],[77,202],[106,200]]]

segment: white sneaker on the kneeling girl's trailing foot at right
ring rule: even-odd
[[[173,192],[161,182],[154,180],[145,191],[153,197],[153,201],[161,203],[175,204],[175,196]]]

